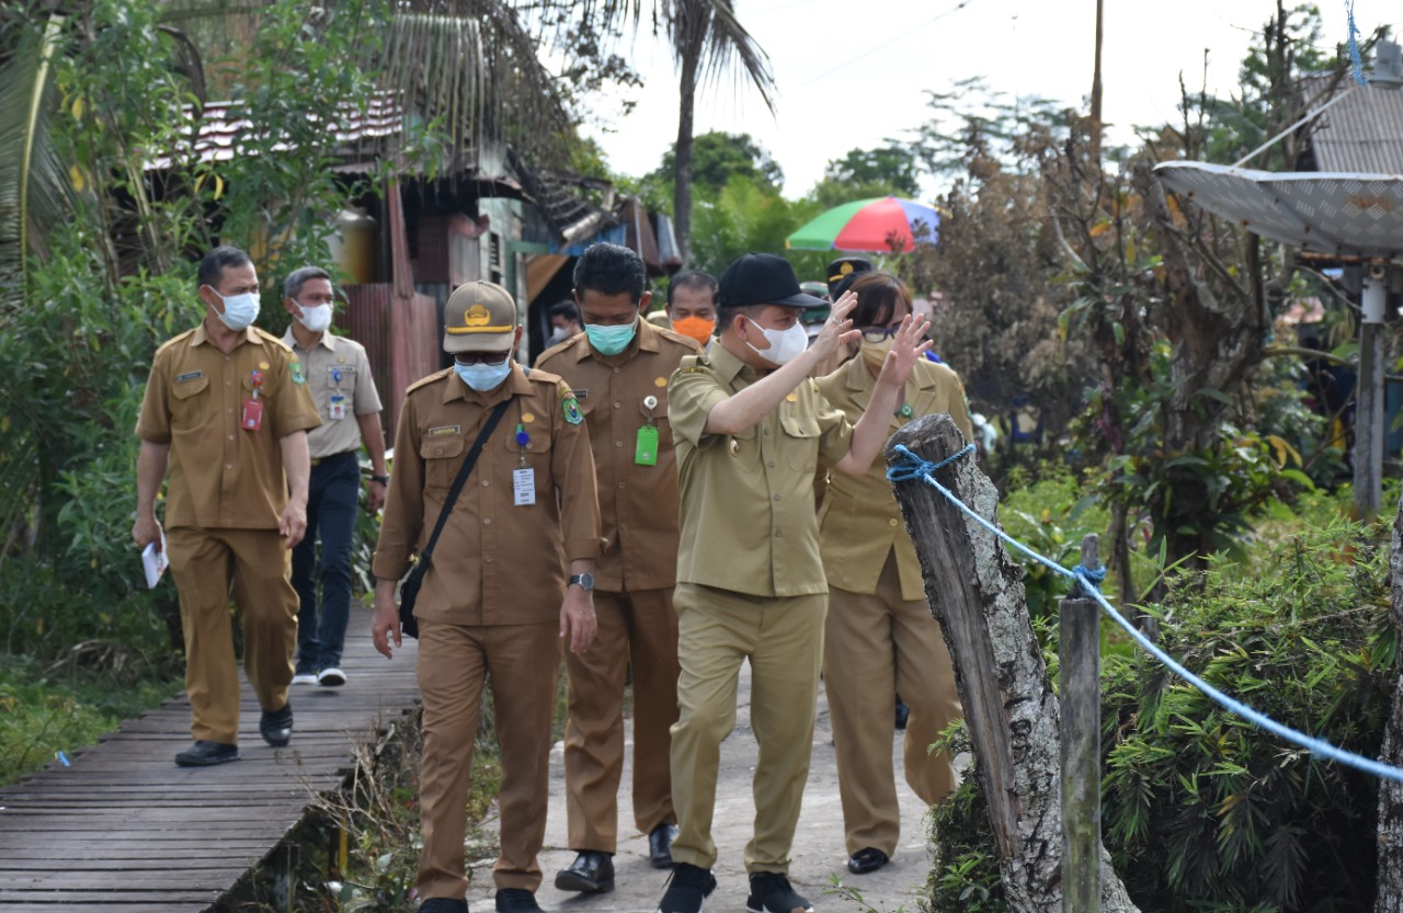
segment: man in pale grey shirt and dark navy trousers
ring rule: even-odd
[[[307,376],[321,426],[307,435],[311,482],[307,536],[292,550],[292,588],[297,590],[297,665],[293,684],[345,684],[341,649],[351,617],[351,548],[361,506],[361,445],[370,457],[370,491],[365,506],[384,503],[390,477],[384,468],[380,394],[370,360],[355,339],[331,332],[335,292],[325,269],[293,269],[282,283],[283,307],[292,317],[283,344],[296,353]],[[321,554],[317,554],[317,540]],[[317,583],[321,604],[317,610]]]

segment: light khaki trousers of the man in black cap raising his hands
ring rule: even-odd
[[[751,661],[755,836],[745,871],[788,872],[814,742],[828,595],[765,599],[678,583],[678,722],[672,726],[672,858],[716,864],[711,816],[721,742],[735,728],[741,663]]]

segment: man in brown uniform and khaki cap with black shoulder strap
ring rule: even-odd
[[[467,787],[490,676],[502,753],[497,910],[535,913],[560,642],[567,638],[570,651],[582,654],[595,634],[595,463],[570,386],[513,360],[521,327],[506,289],[459,286],[443,324],[455,365],[410,386],[400,411],[370,633],[376,649],[391,656],[390,638],[400,645],[396,583],[428,544],[488,415],[505,404],[450,508],[414,610],[424,696],[418,889],[424,913],[467,910]]]

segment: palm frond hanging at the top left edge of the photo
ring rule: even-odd
[[[27,255],[42,252],[46,226],[67,212],[72,184],[49,132],[59,107],[51,65],[62,25],[62,17],[51,17],[42,38],[0,66],[0,311],[20,303]]]

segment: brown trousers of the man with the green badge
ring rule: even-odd
[[[668,729],[678,721],[678,614],[671,589],[595,590],[595,642],[565,654],[565,812],[570,848],[615,853],[623,777],[623,691],[633,668],[633,820],[643,833],[676,820]]]

